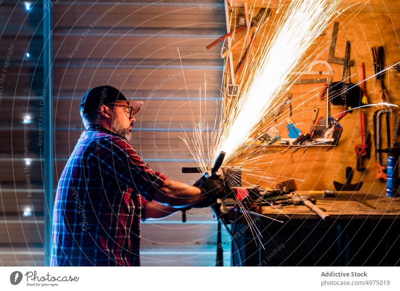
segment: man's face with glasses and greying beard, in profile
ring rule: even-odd
[[[110,106],[113,109],[112,120],[111,120],[111,130],[124,136],[127,140],[131,138],[130,129],[133,127],[133,122],[136,120],[134,116],[129,118],[129,108],[122,107],[118,105],[127,106],[129,103],[127,101],[117,101],[116,106]]]

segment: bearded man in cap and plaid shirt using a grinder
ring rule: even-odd
[[[199,187],[187,185],[141,159],[128,140],[142,105],[129,103],[108,85],[83,95],[80,115],[86,129],[58,181],[51,265],[140,265],[141,220],[209,206],[224,195],[218,177]]]

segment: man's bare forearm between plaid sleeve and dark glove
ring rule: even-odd
[[[190,206],[207,198],[198,187],[166,179],[153,199],[167,206]]]

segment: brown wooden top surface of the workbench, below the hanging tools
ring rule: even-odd
[[[296,191],[296,193],[301,196],[309,195],[308,191]],[[316,198],[316,206],[326,210],[326,213],[333,219],[400,219],[400,197],[390,198],[386,197],[385,193],[369,192],[366,194],[361,191],[341,191],[335,192],[335,194],[337,194],[336,197],[312,195]],[[359,201],[364,201],[375,208]],[[279,219],[288,218],[284,214],[290,218],[319,219],[319,216],[305,205],[275,205],[275,207],[263,206],[261,212]]]

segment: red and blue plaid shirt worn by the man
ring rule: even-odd
[[[84,130],[58,181],[51,265],[140,265],[142,208],[164,180],[124,137]]]

